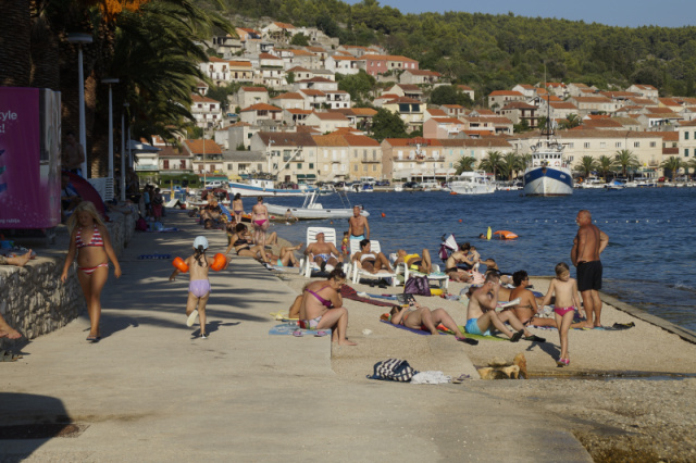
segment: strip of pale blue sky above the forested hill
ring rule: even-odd
[[[348,0],[348,3],[359,3]],[[463,11],[468,13],[508,14],[531,17],[556,17],[610,26],[681,27],[696,25],[695,0],[380,0],[382,7],[393,7],[401,13]]]

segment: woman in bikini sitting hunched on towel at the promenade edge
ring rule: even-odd
[[[340,346],[356,346],[346,338],[348,310],[343,306],[340,288],[346,284],[346,274],[338,268],[324,281],[312,281],[304,288],[300,305],[299,325],[304,329],[333,329],[332,341]],[[320,331],[321,334],[321,331]]]

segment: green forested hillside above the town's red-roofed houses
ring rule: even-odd
[[[482,93],[515,84],[650,84],[694,96],[696,27],[613,27],[467,12],[401,14],[376,0],[222,0],[227,14],[316,26],[341,43],[380,43]]]

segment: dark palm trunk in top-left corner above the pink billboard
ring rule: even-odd
[[[29,0],[3,2],[2,12],[0,12],[0,86],[2,87],[28,87],[32,83],[30,26]]]

